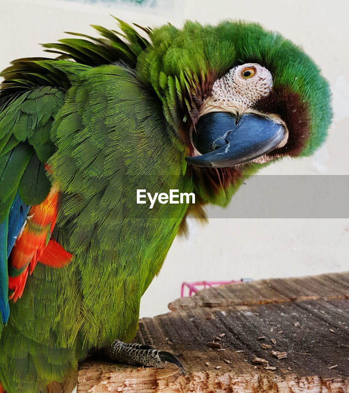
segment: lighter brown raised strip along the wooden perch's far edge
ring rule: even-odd
[[[349,298],[349,272],[221,285],[201,290],[192,297],[176,299],[168,307],[175,311],[330,298]]]

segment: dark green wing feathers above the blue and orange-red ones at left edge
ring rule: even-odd
[[[28,205],[39,204],[48,195],[51,185],[44,163],[54,152],[50,129],[63,102],[63,91],[44,86],[15,95],[0,112],[0,141],[4,145],[0,162],[6,164],[0,172],[0,221],[18,188]]]

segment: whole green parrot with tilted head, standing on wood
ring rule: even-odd
[[[185,218],[309,156],[331,122],[319,68],[259,24],[118,24],[1,73],[0,392],[69,392],[94,351],[183,371],[130,342]],[[190,198],[150,206],[139,190]]]

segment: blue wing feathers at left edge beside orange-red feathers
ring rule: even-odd
[[[27,218],[29,209],[30,206],[22,201],[17,191],[9,213],[0,223],[0,312],[3,323],[7,323],[10,315],[7,259]]]

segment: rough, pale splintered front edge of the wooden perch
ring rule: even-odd
[[[78,393],[346,393],[349,389],[348,380],[342,379],[284,378],[256,371],[237,377],[230,371],[203,371],[190,378],[177,376],[172,368],[139,370],[107,363],[89,364],[84,376],[86,382],[78,385]]]

